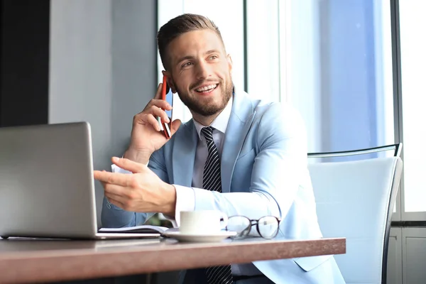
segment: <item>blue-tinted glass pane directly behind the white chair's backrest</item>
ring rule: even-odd
[[[285,23],[280,58],[286,67],[281,97],[305,119],[309,152],[394,143],[389,2],[280,5],[280,23]],[[359,158],[365,157],[343,159]]]

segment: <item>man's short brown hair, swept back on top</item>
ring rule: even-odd
[[[165,70],[168,70],[170,62],[167,55],[168,45],[178,38],[183,33],[190,31],[200,31],[200,30],[212,30],[217,35],[219,35],[220,40],[224,43],[222,35],[219,31],[219,28],[207,17],[196,15],[193,13],[184,13],[176,18],[171,19],[168,23],[165,23],[164,26],[160,28],[157,33],[157,45],[158,52],[160,53],[161,62],[163,62],[163,67]]]

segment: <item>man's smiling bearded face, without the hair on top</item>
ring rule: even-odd
[[[169,84],[196,114],[212,116],[232,95],[232,62],[219,36],[211,30],[190,31],[168,46]]]

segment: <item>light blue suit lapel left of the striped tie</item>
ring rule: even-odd
[[[175,133],[173,144],[173,182],[191,187],[198,135],[192,119],[182,126],[185,129]]]

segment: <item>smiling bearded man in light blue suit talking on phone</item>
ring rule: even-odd
[[[297,111],[251,99],[234,87],[219,29],[203,16],[170,20],[158,32],[158,48],[163,74],[192,119],[182,125],[173,121],[173,136],[165,138],[155,117],[167,121],[162,109],[171,107],[160,99],[160,84],[155,98],[133,119],[124,158],[112,159],[115,173],[94,173],[104,185],[103,226],[136,226],[153,212],[179,224],[181,211],[217,209],[250,219],[280,217],[280,238],[322,237]],[[219,192],[202,188],[211,145],[202,134],[206,126],[212,126],[219,153]],[[181,280],[207,283],[202,271],[188,271]],[[256,261],[232,265],[231,272],[236,283],[344,283],[333,256]]]

